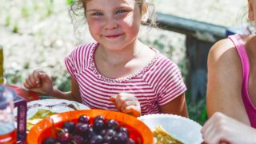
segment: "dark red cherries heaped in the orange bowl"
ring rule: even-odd
[[[99,115],[90,122],[90,117],[81,115],[78,123],[64,122],[57,130],[56,138],[45,138],[43,144],[134,144],[126,127],[114,119],[106,120]]]

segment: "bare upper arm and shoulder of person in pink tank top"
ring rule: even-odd
[[[242,97],[242,64],[230,39],[214,44],[208,55],[206,106],[210,117],[222,112],[249,124]]]

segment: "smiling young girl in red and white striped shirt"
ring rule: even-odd
[[[54,89],[42,70],[34,70],[24,86],[90,108],[119,110],[136,117],[156,113],[187,117],[186,86],[178,66],[138,40],[148,3],[83,0],[81,4],[96,42],[76,46],[66,57],[71,91]]]

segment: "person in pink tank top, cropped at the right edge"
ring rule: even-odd
[[[248,0],[248,18],[256,20],[256,0]],[[256,35],[234,34],[210,49],[206,107],[202,128],[206,143],[256,143]],[[217,113],[216,113],[217,112]]]

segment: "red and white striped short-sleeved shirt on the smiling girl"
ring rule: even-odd
[[[94,52],[98,43],[77,46],[65,58],[66,68],[77,80],[82,102],[90,108],[117,110],[110,96],[134,94],[142,114],[161,113],[160,107],[183,94],[186,86],[178,66],[155,50],[150,64],[130,77],[111,79],[98,72]]]

